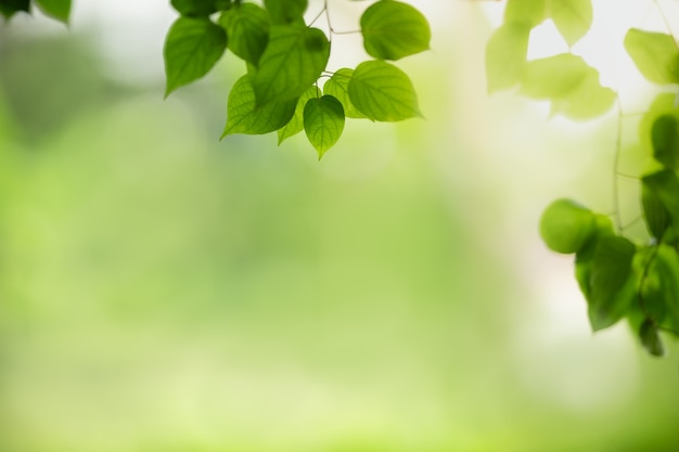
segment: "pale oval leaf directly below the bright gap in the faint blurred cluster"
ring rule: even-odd
[[[589,69],[580,56],[572,53],[529,61],[521,78],[521,93],[535,99],[562,98],[585,80]]]

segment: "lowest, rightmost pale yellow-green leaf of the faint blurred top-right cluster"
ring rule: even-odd
[[[599,72],[590,67],[582,81],[567,94],[552,99],[551,114],[574,120],[589,120],[603,115],[615,104],[615,91],[602,87]]]

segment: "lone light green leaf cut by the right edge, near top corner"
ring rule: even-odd
[[[646,80],[661,85],[679,82],[679,50],[671,36],[630,28],[625,49]]]

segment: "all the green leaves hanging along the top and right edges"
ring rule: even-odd
[[[374,1],[363,11],[356,31],[372,60],[331,72],[332,38],[343,31],[333,29],[328,2],[307,23],[308,0],[264,0],[261,4],[171,0],[179,17],[165,41],[165,95],[204,77],[230,50],[244,62],[245,74],[228,95],[222,138],[276,131],[281,144],[304,130],[320,159],[340,140],[346,118],[399,121],[421,117],[413,83],[392,62],[428,49],[426,18],[407,3]],[[34,5],[68,23],[71,0],[0,0],[0,13],[9,20],[17,12],[30,12]],[[326,30],[313,26],[323,15]],[[503,23],[486,48],[488,91],[516,89],[527,98],[548,101],[551,115],[573,120],[606,114],[616,104],[617,93],[601,83],[597,68],[581,56],[569,51],[528,60],[531,30],[548,20],[573,49],[594,20],[591,0],[508,0]],[[675,89],[679,85],[679,47],[674,36],[631,28],[624,47],[648,81]],[[679,336],[679,107],[675,94],[658,94],[649,106],[640,121],[639,143],[651,162],[638,178],[645,242],[627,236],[616,214],[597,214],[571,199],[547,207],[540,234],[552,250],[575,255],[575,276],[592,330],[627,319],[643,347],[662,356],[658,333]],[[617,219],[615,224],[610,217]]]

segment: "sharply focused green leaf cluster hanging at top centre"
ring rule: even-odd
[[[407,3],[377,0],[368,7],[358,33],[372,60],[335,72],[328,70],[334,30],[328,35],[305,22],[307,0],[171,4],[180,16],[165,41],[166,96],[205,76],[227,50],[245,63],[228,96],[222,138],[278,131],[281,144],[304,130],[321,158],[342,135],[347,117],[422,116],[412,81],[392,63],[430,46],[426,18]],[[322,13],[329,14],[326,2]]]

